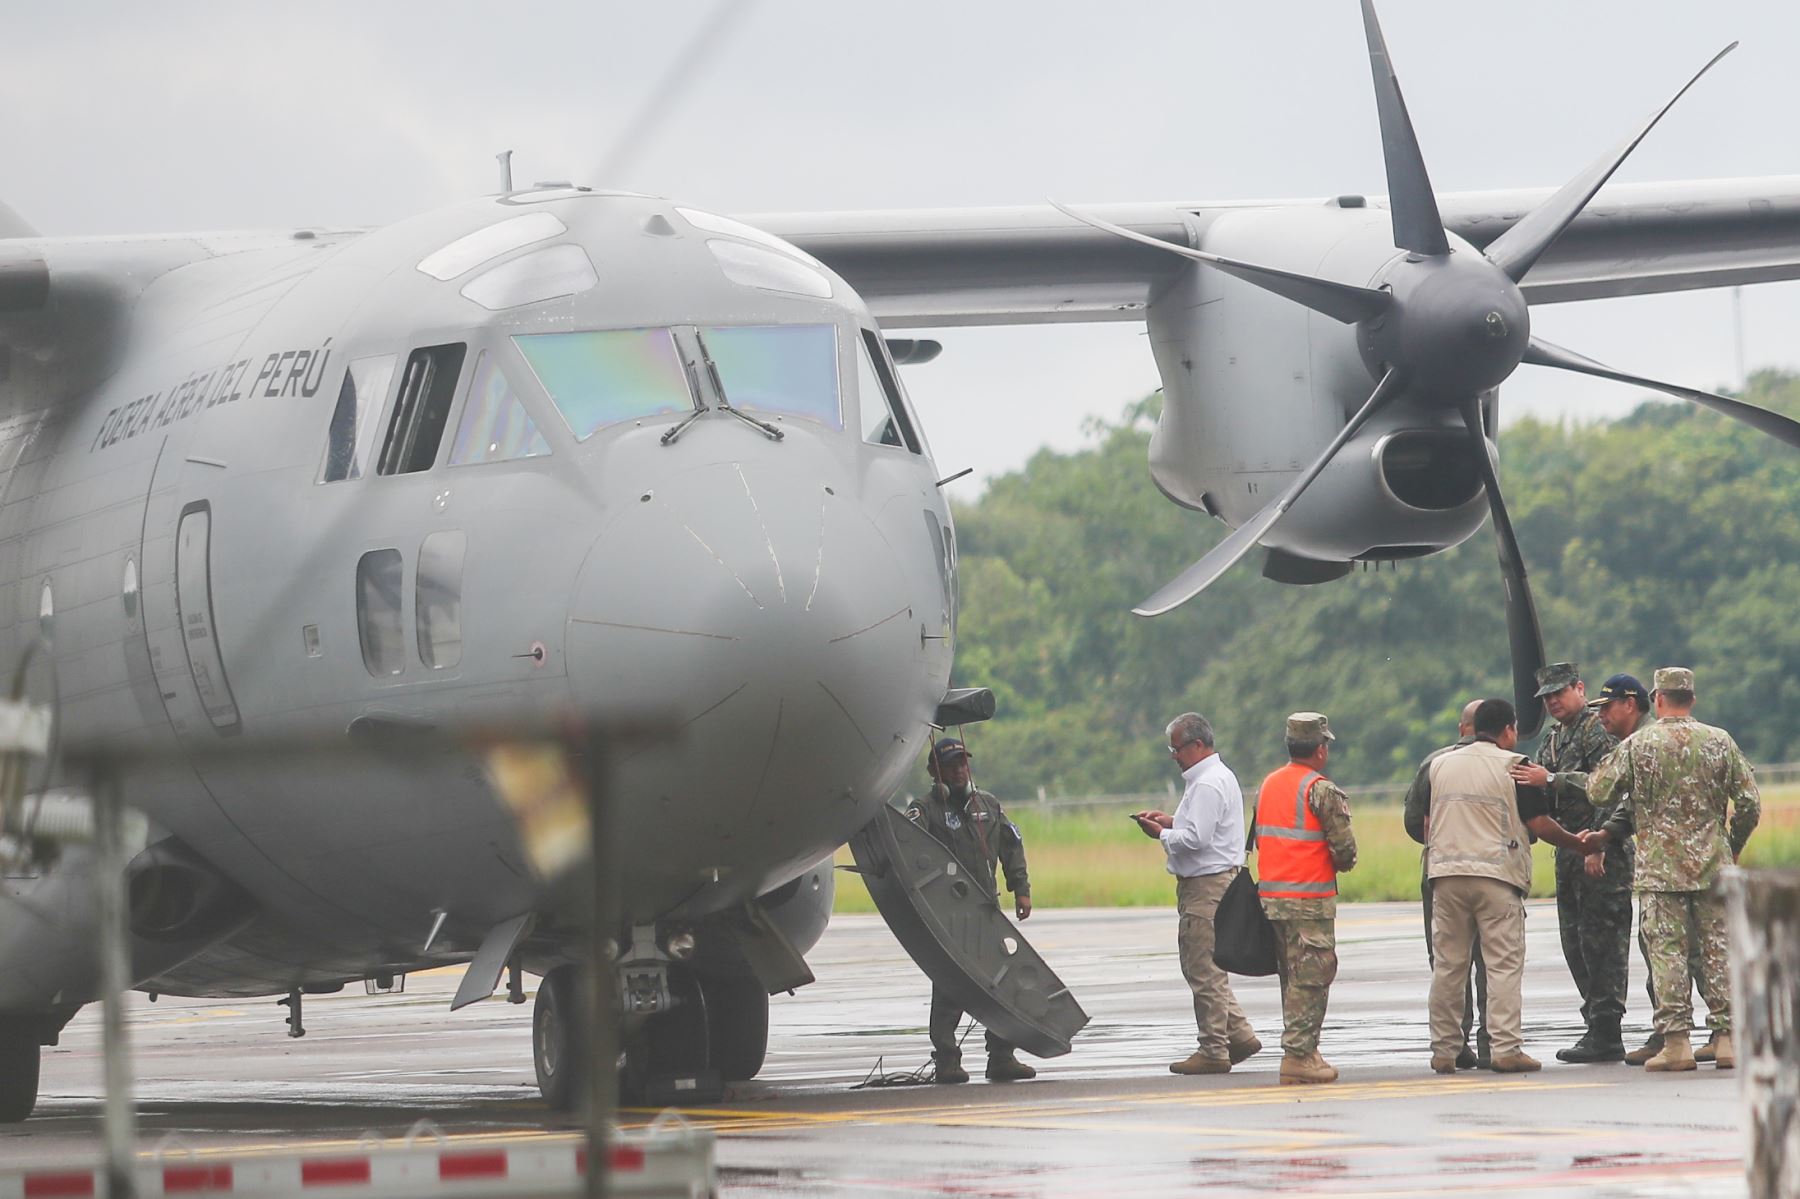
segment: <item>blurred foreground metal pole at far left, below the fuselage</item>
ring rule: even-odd
[[[130,911],[124,893],[124,799],[119,776],[108,765],[94,771],[95,848],[99,855],[101,1048],[106,1102],[106,1194],[137,1195],[133,1145],[131,1042],[124,1026],[124,997],[131,990]]]

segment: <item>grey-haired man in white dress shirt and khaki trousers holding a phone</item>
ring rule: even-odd
[[[1177,1075],[1224,1075],[1262,1050],[1256,1030],[1244,1019],[1231,979],[1213,963],[1213,915],[1226,888],[1244,870],[1244,792],[1224,758],[1213,749],[1213,726],[1188,711],[1168,722],[1168,753],[1181,767],[1186,790],[1175,814],[1134,812],[1147,837],[1163,843],[1168,873],[1175,875],[1181,913],[1181,972],[1193,990],[1199,1048],[1172,1062]]]

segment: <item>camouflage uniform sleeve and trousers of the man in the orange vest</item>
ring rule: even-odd
[[[1350,830],[1350,798],[1328,778],[1307,792],[1307,807],[1325,830],[1332,866],[1339,873],[1355,866],[1355,834]],[[1264,915],[1274,925],[1274,961],[1282,978],[1282,1051],[1309,1057],[1319,1048],[1325,1003],[1337,978],[1337,897],[1264,897]]]

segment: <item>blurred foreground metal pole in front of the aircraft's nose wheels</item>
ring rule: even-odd
[[[612,1107],[619,1091],[619,981],[614,938],[619,931],[619,871],[614,864],[616,814],[612,753],[605,735],[585,740],[589,798],[589,888],[592,924],[587,931],[587,1195],[612,1194]]]

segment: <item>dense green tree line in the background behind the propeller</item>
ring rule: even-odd
[[[1800,376],[1744,396],[1800,416]],[[1273,583],[1253,551],[1168,616],[1132,616],[1224,527],[1170,504],[1147,450],[1159,400],[1094,421],[958,506],[958,686],[988,686],[963,733],[977,781],[1006,798],[1159,790],[1163,729],[1201,711],[1240,778],[1283,760],[1282,718],[1325,711],[1332,774],[1397,783],[1454,738],[1472,697],[1512,695],[1492,531],[1397,569]],[[1800,452],[1694,405],[1622,419],[1521,419],[1501,482],[1550,661],[1589,688],[1663,664],[1697,672],[1703,720],[1757,762],[1787,762],[1800,718]],[[918,785],[925,785],[920,772]],[[1247,785],[1247,783],[1246,783]]]

